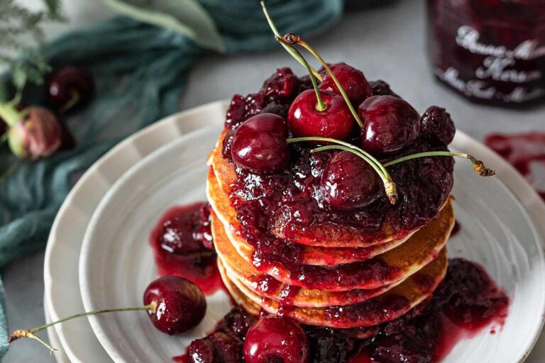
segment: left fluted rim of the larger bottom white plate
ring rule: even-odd
[[[45,250],[45,301],[53,320],[84,310],[79,292],[79,251],[92,213],[106,191],[150,152],[224,118],[227,104],[217,101],[158,121],[123,140],[83,174],[62,203]],[[87,319],[55,325],[55,332],[70,362],[111,362]]]

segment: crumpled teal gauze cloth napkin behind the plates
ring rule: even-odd
[[[104,1],[131,17],[118,16],[72,31],[48,47],[48,59],[54,67],[89,69],[97,93],[92,104],[65,120],[77,140],[75,149],[38,162],[23,162],[1,182],[0,267],[43,248],[62,201],[77,178],[104,152],[178,111],[187,74],[199,57],[211,50],[235,53],[277,46],[256,0],[200,0],[204,13],[183,18],[187,12],[182,12],[182,21],[178,22],[165,17],[165,13],[175,13],[167,9],[158,14],[170,24],[166,27],[150,25],[153,19],[143,17],[138,9],[127,8],[121,0]],[[193,6],[189,3],[194,0],[179,1]],[[304,36],[329,28],[338,21],[343,8],[342,0],[270,0],[267,4],[281,32]],[[210,26],[203,27],[208,16],[218,36]],[[196,18],[202,21],[195,23]],[[189,22],[189,30],[184,22]],[[40,91],[29,89],[25,101],[39,103]],[[16,162],[7,149],[0,150],[0,170]],[[8,350],[8,334],[0,281],[0,358]]]

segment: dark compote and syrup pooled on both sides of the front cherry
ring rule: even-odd
[[[451,259],[434,295],[402,318],[370,328],[302,328],[309,340],[309,363],[437,363],[459,340],[484,328],[495,334],[508,307],[509,298],[483,267]],[[255,319],[240,306],[233,308],[214,332],[192,342],[176,362],[243,363],[244,336]]]

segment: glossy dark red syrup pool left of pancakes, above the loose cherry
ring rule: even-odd
[[[185,277],[207,295],[224,286],[212,243],[209,208],[205,202],[174,206],[150,234],[158,274]]]

